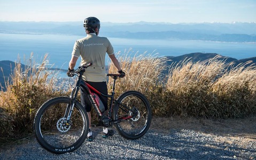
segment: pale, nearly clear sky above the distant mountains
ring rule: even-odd
[[[0,0],[0,21],[256,22],[255,0]]]

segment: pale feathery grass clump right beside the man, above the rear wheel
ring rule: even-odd
[[[118,53],[119,55],[120,53]],[[165,66],[161,65],[161,59],[157,55],[139,54],[138,52],[130,57],[129,50],[119,57],[121,68],[126,73],[125,78],[117,81],[117,93],[128,90],[136,90],[147,94],[154,90],[154,87],[159,83],[161,71]],[[117,73],[117,69],[110,63],[108,73]],[[112,81],[108,82],[109,90],[111,90]]]

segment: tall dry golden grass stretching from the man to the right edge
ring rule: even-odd
[[[161,59],[150,54],[124,55],[119,60],[127,76],[117,83],[117,92],[142,92],[155,116],[239,118],[256,114],[256,69],[245,67],[247,63],[227,69],[220,56],[197,63],[187,59],[173,63],[164,76],[160,75],[166,67],[160,65]],[[116,72],[112,63],[109,70]]]

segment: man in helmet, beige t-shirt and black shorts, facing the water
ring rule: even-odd
[[[88,17],[84,20],[83,27],[86,29],[87,37],[79,39],[75,42],[72,58],[69,62],[69,68],[67,75],[73,71],[77,59],[81,56],[81,65],[84,63],[92,63],[92,66],[88,67],[83,74],[84,81],[88,82],[91,86],[95,87],[98,91],[107,94],[106,73],[105,73],[105,55],[106,53],[110,57],[114,66],[118,69],[120,77],[125,77],[125,73],[121,70],[119,61],[115,58],[113,47],[106,37],[99,37],[100,21],[95,17]],[[80,88],[81,104],[86,108],[89,117],[89,132],[87,135],[88,141],[92,141],[91,132],[91,103],[87,97],[86,91]],[[102,100],[105,112],[107,114],[107,98],[100,97]],[[103,127],[103,138],[112,136],[113,130],[108,130]]]

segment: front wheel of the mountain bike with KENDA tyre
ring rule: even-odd
[[[74,151],[87,137],[89,120],[86,110],[75,102],[71,121],[67,123],[72,102],[68,97],[57,97],[46,101],[34,119],[35,136],[40,145],[55,154]]]

